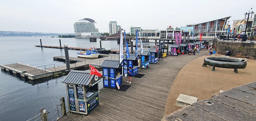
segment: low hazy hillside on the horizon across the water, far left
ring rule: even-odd
[[[0,36],[59,36],[59,35],[75,35],[70,33],[38,33],[25,31],[0,31]]]

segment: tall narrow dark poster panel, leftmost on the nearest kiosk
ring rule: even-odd
[[[70,109],[70,111],[76,111],[76,109],[75,109],[74,86],[68,84],[67,88],[68,88],[69,109]]]

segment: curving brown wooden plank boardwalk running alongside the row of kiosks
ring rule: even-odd
[[[88,116],[68,113],[59,121],[159,121],[163,118],[169,90],[177,73],[188,62],[207,52],[165,57],[163,61],[150,64],[149,68],[139,70],[139,74],[145,75],[132,78],[132,86],[126,92],[102,88],[100,105]],[[123,81],[127,81],[127,77]]]

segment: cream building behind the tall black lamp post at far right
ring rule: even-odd
[[[248,25],[247,25],[247,30],[246,30],[246,34],[248,36],[250,36],[250,34],[251,34],[252,21],[253,21],[253,18],[249,18]],[[242,20],[233,20],[233,27],[234,27],[233,29],[235,30],[234,33],[235,34],[244,33],[246,24],[247,24],[247,18],[242,19]]]

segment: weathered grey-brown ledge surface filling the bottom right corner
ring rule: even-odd
[[[255,105],[256,81],[195,102],[167,115],[162,121],[255,121]]]

